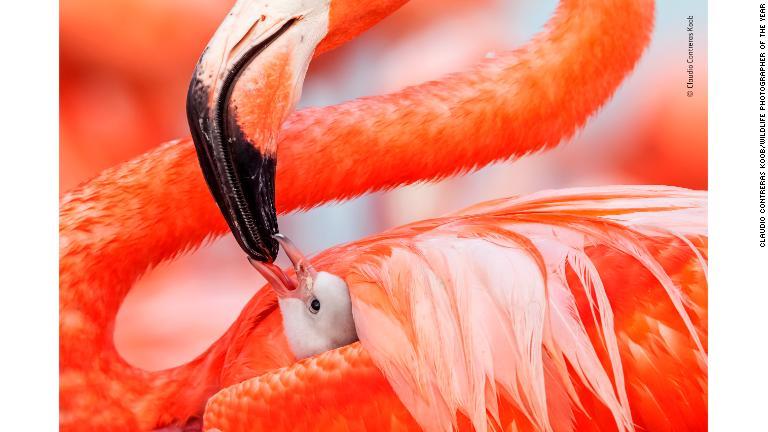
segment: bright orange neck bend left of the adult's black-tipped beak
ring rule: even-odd
[[[194,157],[192,147],[189,150],[189,157]],[[117,311],[148,269],[147,263],[181,253],[184,248],[179,250],[174,238],[205,236],[212,224],[223,223],[215,213],[209,213],[208,220],[196,216],[205,214],[202,209],[210,203],[187,202],[180,189],[184,177],[197,178],[199,173],[193,175],[197,170],[192,171],[192,165],[189,172],[181,172],[173,160],[149,153],[107,170],[62,199],[59,353],[63,429],[87,425],[89,430],[115,430],[116,424],[124,424],[126,430],[137,430],[183,422],[200,414],[207,398],[230,383],[228,376],[233,373],[243,378],[290,363],[290,356],[281,354],[289,351],[287,342],[279,339],[277,300],[269,290],[254,296],[227,333],[184,366],[147,372],[124,362],[115,350]],[[153,172],[144,175],[142,166]],[[205,187],[203,183],[198,186]],[[166,200],[155,202],[160,196]],[[153,221],[155,214],[165,215],[160,217],[161,223]],[[173,214],[180,217],[176,223],[170,221]],[[254,335],[252,328],[267,319],[270,325]],[[266,332],[269,329],[271,333]],[[243,343],[248,337],[252,337],[250,344]],[[259,355],[252,347],[262,345],[263,361],[252,360]],[[243,356],[249,359],[241,361]],[[238,367],[242,364],[246,370]]]

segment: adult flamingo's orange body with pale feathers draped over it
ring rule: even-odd
[[[473,430],[474,422],[479,430],[487,422],[521,431],[706,430],[706,195],[654,187],[537,195],[318,255],[317,268],[350,285],[361,342],[222,390],[208,402],[205,427]],[[561,262],[555,251],[563,245],[569,255]],[[484,255],[489,247],[492,254]],[[528,267],[516,267],[518,253],[530,255]],[[584,262],[591,276],[580,273]],[[531,275],[546,283],[506,311],[504,300],[485,309],[483,296],[473,298],[506,289],[514,303],[537,284],[526,285]],[[449,305],[440,312],[442,301]],[[573,321],[558,322],[565,312]],[[539,338],[515,340],[526,324]],[[511,326],[510,338],[489,336],[504,326]],[[563,328],[569,330],[558,335]],[[571,339],[571,331],[581,338]],[[492,343],[500,340],[506,343]],[[529,355],[513,352],[531,345]],[[612,345],[618,358],[611,358]],[[484,358],[488,349],[499,357]],[[526,364],[529,356],[540,363]],[[513,385],[505,388],[510,374]]]

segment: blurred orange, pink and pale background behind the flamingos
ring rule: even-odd
[[[62,0],[61,193],[164,141],[188,135],[197,57],[232,0]],[[553,0],[413,0],[313,62],[301,106],[397,90],[525,43]],[[685,17],[706,34],[706,2],[659,2],[653,42],[614,98],[546,154],[432,185],[376,193],[281,218],[306,252],[501,196],[599,184],[707,188],[706,37],[686,95]],[[235,319],[263,281],[231,236],[145,275],[118,315],[116,342],[147,369],[181,364]]]

